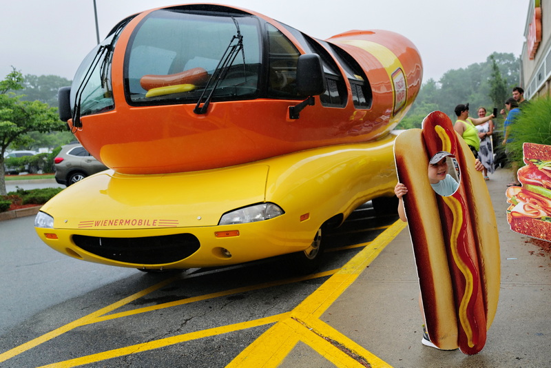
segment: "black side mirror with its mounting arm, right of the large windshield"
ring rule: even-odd
[[[298,105],[289,108],[289,118],[291,119],[299,119],[300,112],[306,106],[314,105],[315,99],[313,96],[322,94],[326,90],[320,55],[304,54],[298,57],[296,81],[298,93],[301,96],[308,96],[308,98]]]

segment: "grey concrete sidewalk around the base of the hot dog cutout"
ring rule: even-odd
[[[439,351],[422,345],[419,286],[407,228],[320,320],[392,367],[549,367],[550,254],[544,254],[528,236],[510,231],[505,197],[510,176],[507,170],[497,170],[486,182],[501,243],[501,291],[497,315],[479,354],[466,356],[459,350]],[[299,343],[280,367],[335,365]]]

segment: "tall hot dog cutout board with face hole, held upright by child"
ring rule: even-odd
[[[454,154],[459,167],[451,196],[436,194],[428,181],[428,161],[439,151]],[[399,134],[394,154],[398,180],[408,188],[404,209],[430,341],[477,354],[496,313],[500,281],[497,224],[484,178],[443,112],[428,114],[422,129]]]

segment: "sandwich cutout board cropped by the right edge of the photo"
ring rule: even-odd
[[[514,232],[551,241],[551,145],[523,143],[522,187],[507,188],[507,221]]]

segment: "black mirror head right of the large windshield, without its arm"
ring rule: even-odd
[[[315,96],[326,90],[322,59],[318,54],[304,54],[297,62],[297,90],[302,96]]]

